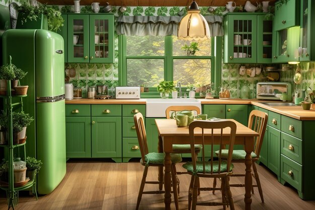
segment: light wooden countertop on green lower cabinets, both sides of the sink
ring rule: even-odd
[[[252,104],[298,120],[315,120],[315,110],[303,110],[301,106],[268,106],[259,102],[277,102],[257,99],[198,99],[201,104]],[[145,99],[73,99],[66,104],[146,104]]]

